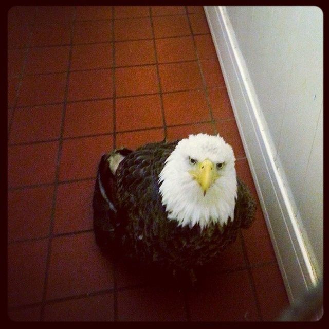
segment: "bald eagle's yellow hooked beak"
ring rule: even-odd
[[[213,182],[219,177],[215,170],[214,164],[206,159],[196,164],[195,170],[190,170],[189,173],[200,184],[204,191],[204,196]]]

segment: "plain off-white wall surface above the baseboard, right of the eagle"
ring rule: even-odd
[[[323,13],[318,7],[226,7],[294,214],[323,266]],[[317,126],[319,125],[318,129]],[[308,236],[308,238],[307,238]]]

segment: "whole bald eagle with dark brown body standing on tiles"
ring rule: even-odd
[[[255,201],[234,162],[232,147],[207,134],[104,154],[93,198],[96,242],[189,273],[193,283],[195,267],[254,219]]]

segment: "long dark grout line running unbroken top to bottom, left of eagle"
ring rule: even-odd
[[[76,7],[74,8],[73,20],[71,22],[68,69],[67,69],[67,74],[66,74],[66,85],[65,85],[65,91],[64,91],[64,106],[62,109],[61,135],[60,135],[58,154],[57,154],[57,168],[56,168],[56,175],[55,175],[55,182],[54,182],[52,210],[51,210],[50,228],[49,228],[48,252],[47,252],[47,258],[46,258],[46,272],[45,272],[44,287],[43,287],[44,290],[43,290],[43,296],[42,296],[42,302],[41,302],[41,315],[40,315],[41,321],[44,320],[44,312],[45,312],[46,297],[47,297],[48,276],[49,276],[49,270],[50,270],[50,255],[51,255],[51,246],[52,246],[52,237],[53,237],[52,235],[53,235],[53,228],[54,228],[54,216],[55,216],[56,202],[57,202],[60,159],[61,159],[61,155],[62,155],[65,112],[66,112],[66,104],[67,104],[68,89],[69,89],[70,65],[71,65],[71,57],[72,57],[72,40],[73,40],[74,29],[75,29],[75,18],[76,18]]]

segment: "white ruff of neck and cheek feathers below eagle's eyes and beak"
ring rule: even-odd
[[[233,221],[236,199],[234,161],[223,169],[205,196],[188,173],[185,162],[176,147],[159,175],[159,191],[168,218],[181,226],[197,224],[202,229],[211,223],[226,224],[229,217]]]

